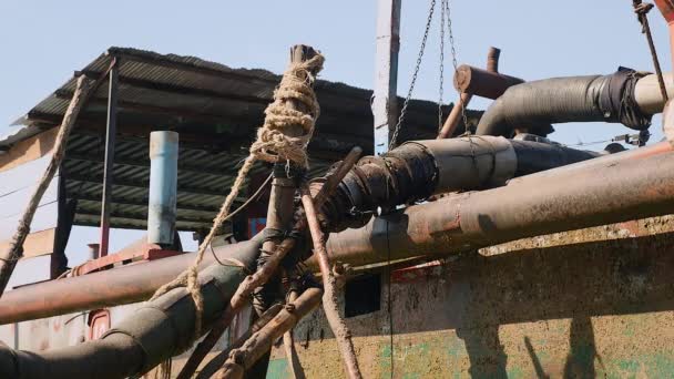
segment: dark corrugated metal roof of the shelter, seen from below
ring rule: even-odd
[[[112,226],[145,226],[147,134],[151,130],[174,130],[181,133],[177,226],[210,227],[280,76],[265,70],[231,69],[194,57],[126,48],[110,48],[78,74],[99,78],[113,58],[120,64],[120,137]],[[75,81],[76,78],[70,79],[19,119],[19,126],[0,136],[0,147],[58,125]],[[323,80],[315,89],[321,115],[309,145],[314,157],[310,175],[325,171],[354,145],[366,152],[371,152],[372,145],[371,91]],[[106,98],[104,83],[81,112],[63,164],[68,196],[80,199],[78,224],[99,223]],[[437,104],[412,101],[406,120],[404,140],[435,137]],[[263,171],[266,172],[263,166],[256,168]]]

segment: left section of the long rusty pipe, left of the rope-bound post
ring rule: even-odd
[[[262,234],[251,240],[214,248],[218,259],[257,253]],[[193,254],[134,264],[104,272],[38,283],[11,290],[0,298],[0,324],[64,315],[146,300],[194,262]],[[200,267],[214,263],[206,254]]]

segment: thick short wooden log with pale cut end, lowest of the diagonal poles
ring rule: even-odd
[[[216,373],[216,378],[242,378],[243,369],[251,368],[284,332],[320,304],[321,294],[318,288],[306,289],[295,303],[278,313],[241,348],[234,350],[223,369]]]

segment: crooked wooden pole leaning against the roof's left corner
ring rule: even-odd
[[[57,142],[54,144],[54,151],[51,156],[51,161],[49,162],[49,166],[38,182],[38,186],[35,187],[25,211],[23,212],[23,216],[19,221],[17,232],[12,236],[10,246],[7,248],[7,250],[0,253],[0,296],[2,296],[2,293],[4,293],[7,283],[9,281],[17,263],[23,256],[23,242],[30,233],[30,224],[33,221],[35,209],[40,204],[42,195],[44,195],[44,191],[47,187],[49,187],[49,184],[61,165],[61,161],[65,154],[65,143],[68,142],[68,136],[70,135],[70,132],[78,120],[80,111],[86,103],[90,93],[93,92],[92,89],[94,89],[94,83],[86,80],[84,76],[80,76],[78,79],[78,86],[72,100],[70,101],[70,105],[63,115],[63,121],[59,129],[59,134],[57,135]]]

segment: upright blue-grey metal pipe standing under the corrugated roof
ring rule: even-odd
[[[150,133],[150,201],[147,242],[172,245],[175,236],[177,192],[176,132]]]

